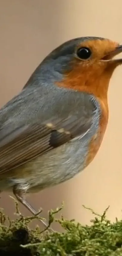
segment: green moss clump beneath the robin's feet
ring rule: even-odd
[[[0,255],[16,256],[122,256],[122,220],[116,219],[111,223],[106,219],[106,211],[102,215],[95,215],[91,220],[91,226],[83,226],[68,221],[61,216],[55,220],[65,229],[64,233],[49,233],[28,228],[28,223],[35,217],[24,218],[18,211],[16,203],[16,214],[19,215],[16,221],[10,221],[5,226],[5,215],[0,211]],[[55,212],[49,212],[49,225],[54,221]]]

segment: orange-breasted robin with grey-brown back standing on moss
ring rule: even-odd
[[[107,128],[108,87],[120,52],[116,41],[87,36],[42,60],[0,109],[0,192],[12,191],[35,215],[26,193],[65,182],[91,163]]]

